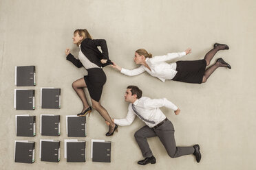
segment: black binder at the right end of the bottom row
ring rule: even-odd
[[[93,162],[111,162],[111,142],[92,139],[91,158]]]

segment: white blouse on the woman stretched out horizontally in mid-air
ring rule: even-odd
[[[146,66],[141,65],[137,69],[134,70],[128,70],[123,69],[121,70],[121,73],[129,76],[138,75],[140,73],[143,73],[144,71],[147,71],[150,75],[153,77],[158,77],[162,82],[165,82],[165,80],[172,80],[173,77],[176,75],[176,62],[173,63],[167,63],[165,61],[167,60],[173,60],[174,58],[181,58],[182,56],[185,56],[186,52],[181,53],[167,53],[167,55],[164,56],[155,56],[153,58],[146,58],[146,62],[149,65],[149,69],[147,69]]]

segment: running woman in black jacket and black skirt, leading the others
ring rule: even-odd
[[[107,42],[103,39],[93,40],[87,29],[76,29],[74,31],[73,42],[80,48],[78,59],[74,58],[70,53],[70,49],[66,49],[67,60],[78,68],[81,66],[85,67],[88,72],[88,75],[76,80],[72,84],[72,87],[83,103],[83,110],[77,115],[81,117],[86,116],[86,114],[90,114],[92,108],[94,108],[105,121],[110,123],[109,132],[107,132],[106,136],[111,136],[114,134],[115,130],[117,130],[118,126],[115,125],[107,110],[100,104],[100,96],[107,80],[102,68],[112,64],[108,56]],[[102,52],[100,52],[97,47],[100,47]],[[87,102],[83,88],[88,88],[92,100],[92,108]]]

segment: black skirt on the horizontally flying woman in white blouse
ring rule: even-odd
[[[201,84],[206,68],[206,60],[176,62],[176,75],[172,80],[178,82]]]

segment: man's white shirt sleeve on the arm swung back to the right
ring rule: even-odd
[[[163,99],[147,99],[147,101],[144,102],[145,108],[161,108],[161,107],[166,107],[166,108],[171,108],[173,110],[177,110],[178,107],[175,106],[171,101],[169,101],[166,98]]]

